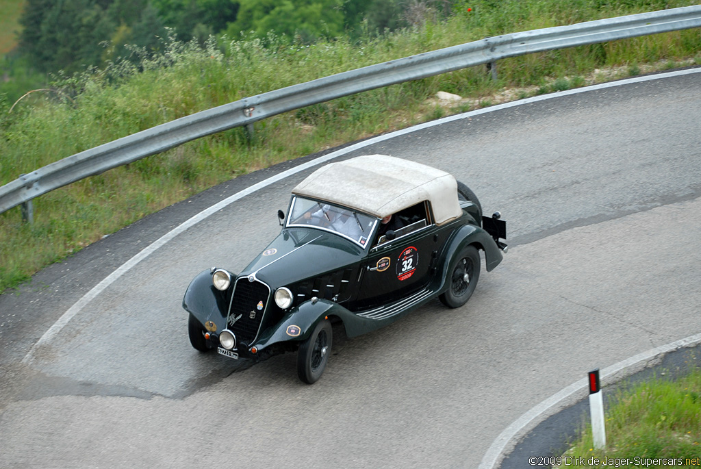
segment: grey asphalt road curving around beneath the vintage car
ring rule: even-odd
[[[310,169],[217,210],[65,315],[144,246],[291,165],[236,179],[0,296],[0,467],[476,468],[590,369],[701,332],[701,74],[448,119],[343,157],[374,153],[447,170],[502,212],[510,252],[466,306],[334,337],[313,386],[291,354],[247,367],[194,351],[189,281],[263,250]]]

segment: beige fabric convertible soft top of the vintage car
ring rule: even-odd
[[[292,189],[382,218],[428,200],[436,224],[460,217],[458,185],[447,172],[386,155],[329,163]]]

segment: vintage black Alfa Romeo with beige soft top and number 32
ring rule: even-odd
[[[332,346],[378,329],[438,297],[457,308],[501,260],[506,225],[482,217],[475,194],[447,172],[383,155],[330,163],[292,191],[280,235],[238,275],[221,267],[192,280],[183,308],[198,351],[261,360],[297,351],[314,383]]]

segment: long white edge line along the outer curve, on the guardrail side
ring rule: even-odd
[[[566,91],[561,91],[559,93],[554,93],[551,95],[541,95],[541,96],[536,96],[536,97],[529,97],[524,100],[519,100],[519,101],[512,101],[512,102],[506,102],[504,104],[498,104],[496,106],[491,106],[491,107],[486,107],[484,109],[477,109],[476,111],[470,111],[466,112],[465,114],[456,114],[455,116],[448,116],[444,117],[441,119],[438,119],[437,121],[430,121],[418,125],[414,125],[414,127],[409,127],[405,128],[402,130],[396,130],[395,132],[390,132],[385,135],[379,135],[378,137],[373,137],[368,140],[364,140],[362,142],[358,142],[356,144],[353,144],[349,147],[345,147],[340,150],[332,151],[331,153],[325,155],[325,156],[320,156],[319,158],[315,158],[312,161],[308,161],[306,163],[303,163],[299,166],[295,166],[294,168],[290,168],[289,170],[285,170],[283,172],[280,172],[280,174],[268,177],[268,179],[264,179],[261,182],[257,182],[256,184],[253,184],[252,186],[248,187],[247,189],[244,189],[243,191],[239,191],[232,196],[229,196],[228,198],[225,198],[224,200],[220,200],[218,203],[215,205],[212,205],[210,208],[207,208],[203,210],[202,212],[198,213],[197,215],[191,217],[188,219],[186,222],[183,222],[179,226],[176,226],[175,229],[172,229],[168,233],[165,233],[165,235],[161,236],[161,238],[158,238],[158,240],[154,241],[154,243],[151,243],[147,247],[144,247],[142,251],[140,251],[138,254],[136,254],[134,257],[126,261],[124,264],[118,267],[114,272],[110,273],[109,276],[105,277],[104,280],[102,280],[100,283],[95,285],[95,287],[92,288],[88,293],[83,295],[81,299],[76,301],[76,303],[68,308],[68,310],[63,313],[63,315],[51,326],[48,328],[48,330],[41,336],[39,341],[36,341],[36,344],[32,346],[32,348],[29,349],[29,352],[27,352],[27,355],[25,355],[25,358],[22,358],[22,363],[29,363],[32,361],[32,358],[34,356],[34,352],[39,346],[42,346],[44,344],[47,344],[53,337],[56,336],[59,332],[61,332],[61,329],[68,324],[74,316],[83,309],[83,307],[86,306],[90,301],[95,299],[98,294],[102,293],[109,285],[114,283],[118,278],[123,276],[125,273],[130,271],[132,267],[136,266],[139,264],[139,262],[143,261],[149,255],[151,255],[154,251],[156,251],[159,247],[162,247],[165,245],[165,243],[168,243],[168,241],[172,240],[175,238],[175,236],[178,236],[180,233],[186,231],[189,229],[191,226],[194,226],[198,224],[199,222],[203,221],[213,213],[222,210],[222,208],[225,208],[226,206],[230,205],[233,202],[236,202],[236,200],[240,200],[241,198],[248,196],[256,191],[259,191],[260,189],[264,189],[267,186],[270,186],[271,184],[274,184],[275,182],[278,182],[282,179],[285,179],[289,176],[295,175],[298,172],[307,170],[308,168],[313,168],[314,166],[320,165],[322,163],[326,163],[327,161],[330,161],[334,158],[339,158],[339,156],[343,156],[345,154],[351,153],[351,151],[355,151],[358,149],[362,149],[365,147],[369,147],[369,145],[376,144],[379,142],[383,142],[384,140],[390,140],[395,137],[400,137],[401,135],[407,135],[411,132],[416,132],[417,130],[423,130],[425,128],[433,127],[435,125],[441,125],[443,123],[449,123],[452,121],[457,121],[458,119],[464,119],[464,118],[471,118],[472,116],[478,116],[479,114],[486,114],[488,112],[494,112],[498,111],[501,109],[508,109],[510,107],[516,107],[516,106],[522,106],[523,104],[529,104],[531,102],[538,102],[538,101],[543,101],[543,100],[550,100],[552,98],[556,97],[562,97],[566,95],[573,95],[577,93],[586,93],[588,91],[593,91],[593,90],[599,90],[601,88],[613,88],[615,86],[622,86],[622,85],[627,85],[629,83],[637,83],[641,81],[650,81],[650,80],[658,80],[658,79],[663,79],[663,78],[669,78],[672,76],[681,76],[681,75],[686,75],[686,74],[693,74],[693,73],[700,73],[701,69],[686,69],[686,70],[679,70],[677,72],[669,72],[666,74],[657,74],[657,75],[648,75],[648,76],[639,76],[637,78],[633,79],[626,79],[626,80],[619,80],[619,81],[612,81],[610,83],[601,83],[599,85],[592,85],[592,86],[587,86],[585,88],[576,88],[574,90],[566,90]],[[481,467],[481,466],[480,466]]]

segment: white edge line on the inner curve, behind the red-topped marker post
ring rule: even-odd
[[[671,344],[651,348],[651,350],[639,353],[601,370],[601,383],[602,385],[615,383],[635,372],[641,371],[641,369],[651,365],[653,361],[662,358],[662,355],[676,351],[679,348],[693,347],[698,344],[701,344],[701,334],[695,334],[686,337],[686,339],[674,341]],[[498,467],[498,464],[501,463],[505,456],[505,451],[515,447],[517,440],[524,437],[533,428],[536,428],[538,423],[583,399],[587,394],[588,388],[587,378],[580,379],[532,407],[496,437],[496,440],[492,442],[484,454],[478,469],[494,469]]]

